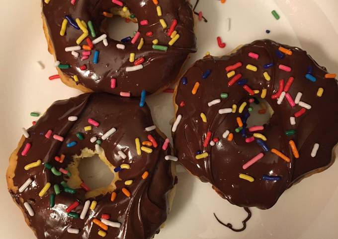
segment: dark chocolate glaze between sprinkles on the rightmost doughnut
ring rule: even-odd
[[[284,56],[279,59],[275,54],[282,46],[293,52],[292,56]],[[248,57],[253,52],[259,55],[258,60]],[[236,118],[243,117],[248,112],[249,104],[242,114],[218,113],[219,109],[231,108],[233,104],[239,107],[242,102],[249,100],[250,96],[242,86],[236,83],[228,87],[230,79],[227,77],[226,66],[242,62],[242,67],[236,69],[236,74],[241,73],[242,79],[248,79],[247,85],[251,89],[267,89],[265,100],[272,107],[274,114],[269,123],[264,125],[264,130],[259,131],[266,136],[266,145],[271,149],[275,148],[291,159],[290,163],[285,162],[270,151],[263,151],[255,141],[246,143],[241,133],[236,133],[238,127]],[[264,69],[262,66],[267,63],[274,63],[274,66]],[[246,69],[247,64],[257,66],[257,71]],[[292,68],[291,72],[278,69],[279,64]],[[311,82],[305,78],[308,66],[313,67],[312,75],[317,78]],[[211,70],[211,74],[202,79],[202,74]],[[271,76],[266,81],[263,72],[267,71]],[[175,103],[178,107],[176,116],[182,115],[177,130],[172,134],[175,146],[175,154],[182,165],[193,175],[204,182],[213,184],[214,189],[231,203],[241,207],[258,207],[267,209],[272,207],[284,190],[294,182],[304,178],[316,170],[329,167],[334,158],[332,150],[338,141],[338,128],[332,127],[338,117],[338,86],[335,79],[326,79],[326,69],[313,60],[305,51],[278,44],[270,40],[259,40],[244,45],[236,53],[223,57],[205,57],[198,60],[183,75],[187,78],[187,84],[182,82],[177,87]],[[301,109],[296,105],[294,108],[284,99],[281,105],[277,105],[276,99],[271,95],[278,90],[278,82],[284,79],[285,83],[290,76],[294,82],[288,91],[293,99],[297,92],[302,92],[301,101],[312,106],[311,110],[296,118],[296,125],[290,124],[290,117]],[[191,90],[196,81],[200,82],[197,94],[192,95]],[[284,85],[285,85],[284,83]],[[319,87],[324,88],[322,97],[317,97]],[[229,97],[221,99],[221,93],[229,93]],[[255,95],[259,98],[260,93]],[[208,107],[207,103],[221,99],[221,103]],[[185,105],[180,107],[184,101]],[[237,108],[238,109],[238,108]],[[207,117],[207,123],[200,118],[203,112]],[[246,124],[245,124],[246,126]],[[234,140],[229,142],[222,137],[226,130],[234,133]],[[295,129],[296,134],[286,136],[285,130]],[[203,147],[203,140],[206,132],[212,132],[212,139],[218,137],[219,142],[215,146]],[[248,137],[252,133],[246,129]],[[289,140],[292,139],[299,151],[300,158],[293,157]],[[311,157],[311,151],[315,143],[320,144],[316,157]],[[196,152],[208,152],[209,157],[196,160]],[[247,170],[242,166],[255,155],[262,152],[264,157],[257,161]],[[239,178],[239,174],[248,174],[255,180],[249,182]],[[263,180],[262,176],[280,176],[280,180]]]

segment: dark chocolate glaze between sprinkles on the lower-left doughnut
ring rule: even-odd
[[[173,188],[174,180],[171,174],[171,164],[164,158],[170,154],[168,150],[162,150],[164,139],[156,130],[146,132],[145,127],[153,125],[150,110],[147,106],[140,108],[138,101],[129,98],[118,98],[116,96],[97,93],[83,94],[69,100],[55,102],[34,126],[28,129],[30,137],[25,139],[19,149],[17,167],[15,169],[14,185],[20,187],[28,178],[34,179],[33,183],[22,193],[10,191],[13,199],[18,206],[24,209],[23,202],[30,199],[35,200],[31,205],[35,211],[35,216],[30,217],[26,210],[24,212],[28,218],[29,225],[36,233],[38,239],[99,239],[97,235],[100,229],[92,223],[94,217],[100,219],[102,213],[109,214],[110,220],[120,222],[120,228],[109,227],[107,237],[118,239],[151,239],[160,230],[160,226],[165,222],[169,213],[167,193]],[[77,121],[68,121],[69,116],[78,116]],[[92,118],[100,123],[98,127],[92,127],[90,131],[84,131],[84,126],[88,125],[87,119]],[[89,141],[90,137],[99,138],[115,127],[117,131],[107,140],[102,140],[101,147],[105,152],[108,161],[118,167],[123,163],[130,165],[129,170],[119,172],[116,182],[117,197],[114,202],[110,201],[111,194],[101,195],[95,198],[97,206],[95,210],[90,210],[84,220],[73,219],[67,216],[65,209],[76,199],[80,200],[74,212],[81,213],[85,197],[84,189],[77,188],[76,194],[66,193],[56,195],[55,206],[49,206],[49,195],[54,193],[53,185],[62,180],[67,181],[67,177],[55,176],[43,165],[24,170],[24,166],[41,159],[43,163],[50,163],[57,169],[67,168],[73,158],[80,155],[81,150],[89,148],[95,150],[95,143]],[[53,134],[64,136],[65,140],[45,138],[47,130],[52,129]],[[83,140],[77,138],[76,133],[82,132]],[[136,153],[135,138],[139,137],[141,142],[147,140],[147,135],[151,134],[159,146],[153,148],[153,153],[142,152],[141,156]],[[66,147],[70,141],[77,141],[77,145],[71,148]],[[32,144],[27,156],[21,156],[24,145]],[[122,150],[126,159],[118,155]],[[54,160],[55,156],[66,155],[64,163]],[[142,179],[142,174],[148,171],[147,179]],[[133,179],[130,186],[124,185],[124,181]],[[52,187],[42,198],[38,193],[45,185],[50,182]],[[126,197],[121,188],[126,187],[131,197]],[[62,186],[60,185],[60,188]],[[91,198],[90,200],[93,200]],[[80,229],[80,234],[69,234],[67,228]]]

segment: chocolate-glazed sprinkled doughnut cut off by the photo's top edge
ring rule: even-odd
[[[136,35],[122,42],[107,37],[104,23],[111,12],[138,20]],[[84,92],[140,96],[142,90],[161,91],[176,79],[188,54],[196,51],[188,0],[77,0],[75,4],[42,0],[42,18],[62,81]]]

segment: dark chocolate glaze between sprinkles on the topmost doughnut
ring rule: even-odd
[[[116,44],[121,42],[109,37],[107,38],[109,43],[107,47],[102,42],[96,44],[93,50],[100,52],[97,64],[93,64],[92,61],[93,50],[89,59],[84,61],[80,60],[81,57],[75,59],[70,52],[65,52],[65,47],[77,45],[76,40],[82,34],[82,31],[76,30],[68,24],[66,35],[60,36],[62,21],[65,15],[71,15],[74,19],[80,18],[85,22],[91,20],[98,37],[106,32],[104,29],[102,29],[104,32],[99,30],[105,18],[102,12],[110,12],[112,7],[118,5],[112,3],[111,0],[81,0],[77,1],[75,5],[71,4],[69,0],[51,0],[48,4],[42,0],[42,7],[56,59],[72,66],[69,69],[63,69],[63,73],[70,77],[75,74],[78,75],[80,84],[96,92],[103,91],[119,95],[121,91],[124,91],[131,92],[132,96],[139,96],[141,91],[145,89],[151,94],[173,82],[188,54],[196,50],[191,5],[188,0],[160,0],[162,16],[159,17],[156,5],[152,0],[123,0],[123,3],[136,15],[139,21],[146,19],[149,24],[146,26],[139,24],[138,31],[141,33],[139,40],[136,44],[126,43],[125,50],[117,49]],[[160,18],[167,22],[168,27],[165,30],[159,22]],[[167,32],[173,19],[177,19],[175,30],[180,38],[172,47],[168,48],[167,52],[153,50],[152,41],[154,39],[159,40],[159,45],[168,46],[171,39],[167,36]],[[146,36],[149,31],[154,33],[152,37]],[[139,51],[137,46],[141,37],[144,38],[145,44]],[[90,36],[90,39],[93,40],[94,38]],[[87,45],[86,41],[84,40],[80,45]],[[82,51],[78,52],[81,53]],[[143,69],[126,72],[127,66],[134,65],[134,63],[129,62],[130,53],[135,53],[135,59],[145,58]],[[79,68],[83,64],[87,66],[86,70]],[[111,78],[117,80],[115,89],[110,87]]]

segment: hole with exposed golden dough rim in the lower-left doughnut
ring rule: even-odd
[[[73,162],[68,165],[72,176],[67,184],[71,188],[81,188],[81,183],[84,182],[90,188],[90,191],[85,194],[86,198],[105,195],[116,189],[115,182],[119,177],[118,173],[114,172],[114,168],[103,150],[98,153],[84,148],[81,155],[74,155]]]

